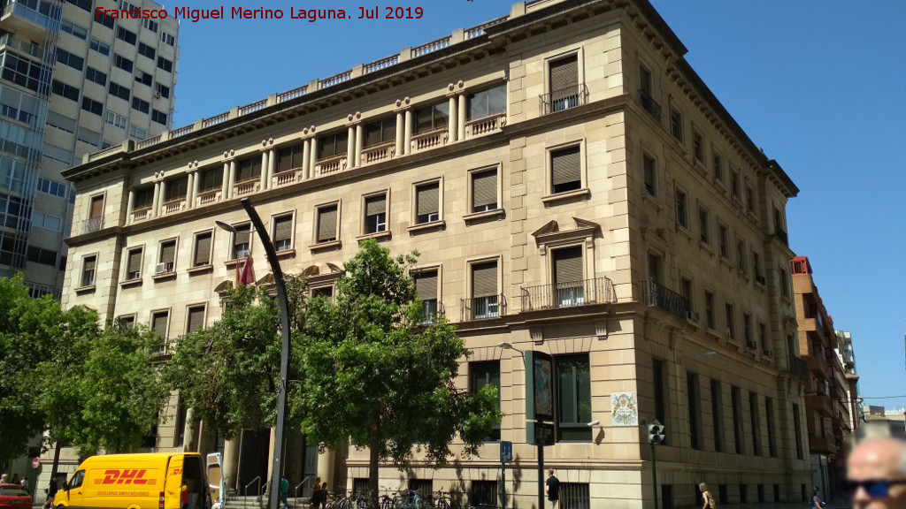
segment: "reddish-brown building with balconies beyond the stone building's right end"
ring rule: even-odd
[[[805,256],[796,256],[792,264],[799,353],[808,366],[805,413],[813,483],[825,494],[837,493],[853,433],[850,381],[839,353],[841,338],[814,284],[812,266]]]

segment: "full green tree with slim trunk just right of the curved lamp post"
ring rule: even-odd
[[[469,351],[443,317],[425,322],[408,275],[414,255],[393,258],[373,240],[344,265],[335,302],[309,303],[302,344],[303,432],[327,447],[369,447],[371,507],[378,466],[408,465],[413,450],[443,466],[457,434],[464,454],[500,421],[496,388],[454,384]]]

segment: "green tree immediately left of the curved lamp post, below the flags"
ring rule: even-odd
[[[292,275],[284,280],[291,327],[299,330],[305,322],[305,281]],[[166,379],[192,410],[193,422],[204,420],[230,438],[242,429],[272,427],[276,421],[280,309],[265,288],[245,285],[230,290],[222,307],[219,321],[179,341]],[[292,349],[291,366],[298,365],[297,351]],[[289,416],[289,422],[298,423],[296,412]]]

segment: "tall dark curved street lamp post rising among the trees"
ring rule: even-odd
[[[282,348],[280,351],[280,385],[277,387],[277,419],[274,437],[274,464],[272,465],[271,471],[271,495],[267,505],[269,509],[277,509],[277,506],[280,504],[280,475],[282,471],[281,462],[283,461],[284,421],[286,420],[286,379],[289,371],[289,303],[286,300],[286,285],[284,283],[283,270],[280,268],[280,261],[277,259],[277,253],[274,249],[274,244],[271,243],[270,235],[267,235],[265,224],[261,222],[261,217],[255,212],[255,207],[252,206],[252,202],[249,201],[247,197],[239,200],[239,203],[246,209],[246,214],[248,214],[249,219],[252,220],[252,225],[255,226],[255,230],[258,232],[258,238],[261,239],[261,244],[265,247],[267,264],[270,265],[271,274],[274,275],[277,303],[280,306],[280,332],[282,339]],[[225,225],[219,221],[217,221],[217,226],[220,226],[227,231],[232,231],[234,234],[236,233],[236,228],[233,226]]]

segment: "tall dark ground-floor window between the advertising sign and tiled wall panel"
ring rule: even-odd
[[[587,353],[554,357],[557,370],[557,440],[592,440],[592,378]]]

